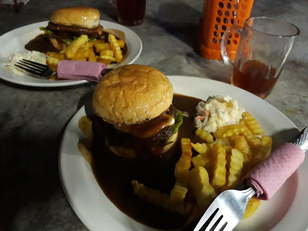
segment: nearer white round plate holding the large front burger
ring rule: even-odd
[[[212,95],[230,95],[240,107],[249,111],[272,136],[273,148],[287,142],[298,132],[296,126],[269,103],[232,85],[214,80],[168,76],[174,93],[206,100]],[[91,104],[89,103],[90,108]],[[89,106],[88,105],[88,106]],[[77,149],[77,142],[84,137],[79,131],[78,120],[86,115],[83,106],[71,119],[63,134],[59,150],[59,171],[64,192],[79,219],[91,231],[96,230],[155,230],[144,226],[118,210],[104,195],[97,184],[90,165]],[[253,216],[240,221],[236,231],[302,231],[308,228],[308,160],[283,184],[282,188],[261,205]],[[106,176],[108,177],[108,176]]]

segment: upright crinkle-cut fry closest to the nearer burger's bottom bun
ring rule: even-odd
[[[178,162],[175,165],[174,176],[177,180],[183,180],[188,178],[189,168],[191,167],[191,160],[192,160],[192,146],[190,145],[190,140],[187,138],[181,139],[181,149],[182,155]],[[182,182],[183,184],[185,182]]]

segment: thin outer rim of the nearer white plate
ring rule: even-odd
[[[168,78],[180,77],[180,78],[204,79],[205,81],[209,81],[209,82],[213,82],[213,83],[219,83],[219,84],[223,84],[223,85],[232,86],[232,85],[230,85],[230,84],[223,83],[223,82],[220,82],[220,81],[216,81],[216,80],[213,80],[213,79],[207,79],[207,78],[196,77],[196,76],[168,75],[167,77],[168,77]],[[233,86],[233,87],[235,87],[235,86]],[[236,88],[238,88],[238,87],[236,87]],[[242,90],[242,89],[240,89],[240,88],[238,88],[238,90],[239,90],[239,91],[245,92],[245,94],[248,93],[248,94],[250,94],[250,95],[253,95],[253,94],[251,94],[251,93],[249,93],[249,92],[247,92],[247,91],[245,91],[245,90]],[[175,91],[174,93],[177,93],[177,92]],[[265,102],[265,104],[266,104],[268,107],[270,107],[271,109],[275,110],[276,112],[279,112],[279,114],[280,114],[284,119],[286,119],[286,120],[290,123],[290,125],[291,125],[290,127],[296,128],[296,129],[298,130],[298,128],[296,127],[296,125],[295,125],[286,115],[284,115],[281,111],[279,111],[276,107],[274,107],[274,106],[271,105],[270,103],[266,102],[265,100],[258,98],[258,97],[255,96],[255,95],[253,95],[253,97],[255,97],[255,99],[259,100],[260,102],[262,101],[262,103]],[[61,169],[61,167],[62,167],[61,160],[62,160],[62,157],[63,157],[63,154],[62,154],[63,140],[64,140],[64,138],[65,138],[65,135],[66,135],[67,131],[68,131],[67,129],[69,128],[69,126],[71,126],[71,123],[72,123],[73,118],[74,118],[78,113],[81,113],[81,112],[80,112],[81,110],[84,110],[84,105],[83,105],[83,107],[79,108],[79,110],[76,111],[76,112],[74,113],[74,115],[70,118],[69,123],[67,124],[67,126],[66,126],[66,128],[65,128],[65,130],[64,130],[64,132],[63,132],[63,136],[62,136],[61,143],[60,143],[60,147],[59,147],[59,175],[60,175],[60,180],[61,180],[61,184],[62,184],[62,187],[63,187],[63,191],[64,191],[64,193],[65,193],[65,195],[66,195],[66,197],[67,197],[67,200],[68,200],[68,202],[70,203],[70,205],[71,205],[73,211],[74,211],[75,214],[77,215],[77,217],[80,219],[80,221],[81,221],[88,229],[90,229],[90,230],[97,230],[97,229],[96,229],[95,227],[93,227],[92,224],[90,224],[90,222],[82,215],[82,212],[81,212],[81,211],[76,211],[76,208],[74,207],[74,204],[73,204],[73,202],[71,201],[71,198],[68,196],[67,188],[66,188],[65,182],[64,182],[64,180],[63,180],[63,175],[62,175],[63,172],[62,172],[62,169]],[[79,137],[79,138],[80,138],[80,137]],[[76,144],[76,145],[77,145],[77,144]],[[296,171],[296,172],[297,172],[297,171]],[[96,181],[96,180],[95,180],[95,181]],[[102,192],[102,193],[103,193],[103,192]],[[295,196],[296,196],[296,195],[297,195],[297,194],[295,194]],[[295,199],[294,199],[294,200],[295,200]],[[111,203],[112,203],[112,202],[111,202]],[[292,202],[292,205],[293,205],[293,203],[294,203],[294,201]],[[289,210],[290,210],[290,208],[289,208]],[[289,210],[286,211],[286,214],[289,212]],[[123,214],[124,214],[124,213],[123,213]],[[124,214],[124,215],[125,215],[125,214]],[[126,215],[126,216],[127,216],[127,215]],[[127,216],[127,217],[128,217],[128,216]],[[131,218],[130,218],[130,219],[131,219]],[[277,226],[278,224],[280,224],[280,223],[283,221],[283,219],[284,219],[284,218],[282,218],[277,224],[275,224],[275,226]],[[133,220],[133,221],[134,221],[134,220]],[[298,224],[298,225],[299,225],[299,224]],[[303,221],[303,222],[302,222],[302,225],[305,225],[306,229],[308,228],[308,223],[307,223],[307,222],[304,224],[304,221]],[[274,229],[275,226],[272,227],[272,229]],[[148,229],[151,229],[151,228],[148,227],[148,226],[147,226],[147,228],[148,228]],[[306,229],[305,229],[305,230],[306,230]],[[153,229],[153,230],[156,230],[156,229]],[[275,230],[276,230],[276,229],[275,229]]]

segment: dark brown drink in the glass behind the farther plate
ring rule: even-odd
[[[118,21],[123,25],[136,26],[144,21],[146,0],[117,0]]]

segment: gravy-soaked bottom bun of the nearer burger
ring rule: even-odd
[[[172,142],[172,143],[165,145],[165,146],[153,147],[152,148],[152,156],[161,156],[165,152],[168,152],[173,147],[173,145],[176,143],[177,137],[178,137],[178,132],[176,132],[175,134],[173,134],[169,137],[168,142]],[[113,154],[115,154],[117,156],[122,156],[122,157],[126,157],[126,158],[135,158],[136,156],[142,157],[142,153],[140,155],[138,155],[137,150],[135,150],[133,148],[126,148],[126,147],[118,147],[118,146],[109,145],[108,140],[105,140],[105,145],[106,145],[106,147],[109,151],[111,151]],[[149,154],[149,153],[145,153],[145,154]]]

